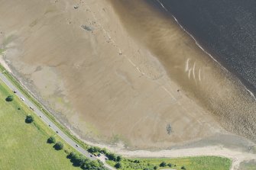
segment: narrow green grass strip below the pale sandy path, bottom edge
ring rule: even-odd
[[[110,165],[115,162],[108,161]],[[165,166],[160,166],[165,162]],[[189,169],[189,170],[228,170],[231,167],[231,160],[217,156],[199,156],[180,159],[122,159],[122,169]],[[168,166],[168,164],[170,166]],[[182,168],[183,167],[183,168]]]

